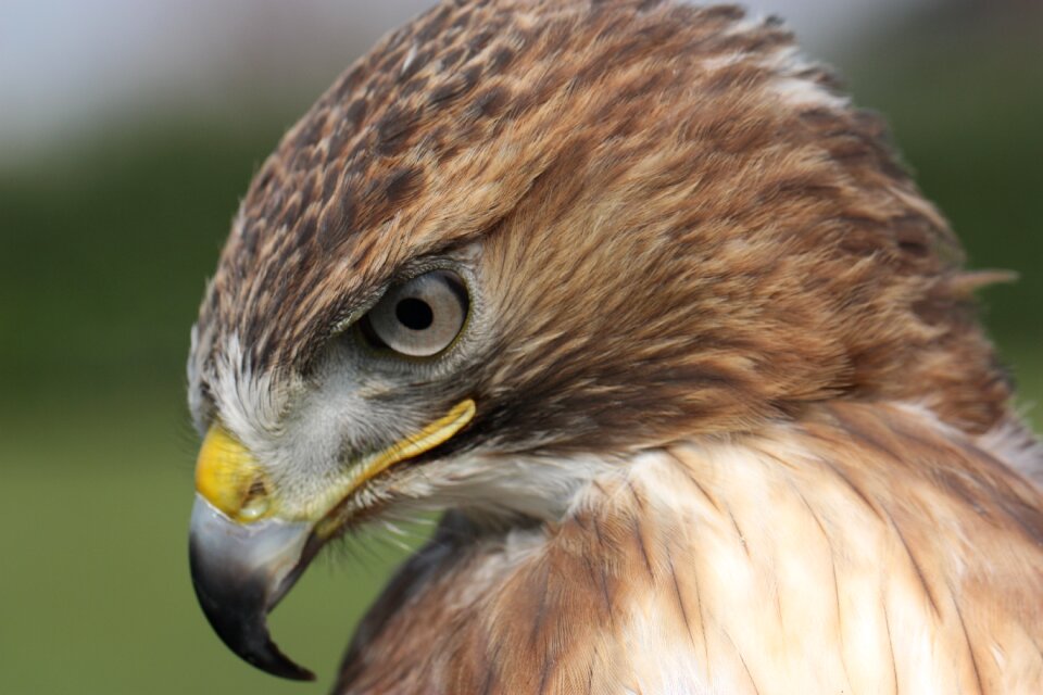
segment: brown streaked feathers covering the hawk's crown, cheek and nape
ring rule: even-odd
[[[200,334],[306,369],[409,260],[482,239],[510,306],[476,431],[518,448],[535,427],[618,447],[634,414],[648,443],[839,395],[989,429],[1009,391],[957,243],[880,121],[791,51],[732,7],[442,3],[264,164]]]

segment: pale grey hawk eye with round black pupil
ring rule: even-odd
[[[467,306],[467,290],[460,277],[433,270],[392,287],[359,324],[375,346],[430,357],[460,334]]]

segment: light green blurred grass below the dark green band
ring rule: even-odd
[[[242,664],[192,594],[194,444],[172,426],[179,399],[156,395],[5,420],[0,693],[328,692],[354,623],[404,553],[377,540],[348,558],[334,548],[272,616],[275,640],[321,687]]]

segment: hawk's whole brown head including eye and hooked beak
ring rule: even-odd
[[[983,429],[1005,387],[953,308],[958,255],[774,20],[444,2],[321,98],[235,218],[188,370],[202,607],[305,678],[265,616],[368,519],[554,520],[642,450],[831,397]]]

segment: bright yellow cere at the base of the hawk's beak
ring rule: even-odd
[[[214,425],[196,460],[196,491],[230,519],[256,521],[272,511],[269,486],[256,459],[228,430]]]

